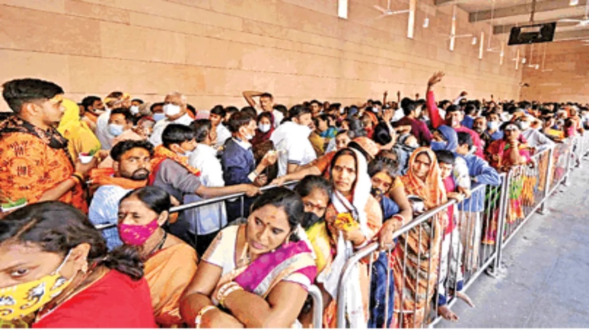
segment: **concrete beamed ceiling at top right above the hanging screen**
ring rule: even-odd
[[[584,27],[575,22],[558,22],[559,19],[586,19],[589,0],[537,0],[535,23],[557,22],[554,41],[589,39],[589,24]],[[458,5],[469,13],[471,22],[489,22],[495,35],[509,34],[512,27],[530,24],[532,0],[434,0],[436,6]]]

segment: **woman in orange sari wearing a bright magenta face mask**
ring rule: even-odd
[[[118,233],[123,243],[137,247],[145,263],[155,322],[180,326],[180,296],[196,272],[196,251],[161,227],[170,216],[171,197],[154,186],[137,188],[121,198]]]

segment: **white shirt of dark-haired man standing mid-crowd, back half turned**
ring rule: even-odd
[[[304,166],[317,158],[313,145],[309,141],[311,129],[294,122],[286,122],[276,128],[270,140],[278,153],[278,176],[288,172],[289,164]]]

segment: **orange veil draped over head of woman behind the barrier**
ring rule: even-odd
[[[421,153],[427,154],[431,161],[431,166],[429,167],[425,182],[415,176],[412,169],[412,165],[415,163],[415,158]],[[434,208],[448,201],[446,199],[444,184],[442,183],[442,178],[439,174],[436,154],[428,147],[419,147],[413,152],[413,154],[411,154],[411,157],[409,158],[409,171],[407,171],[405,176],[401,177],[401,181],[403,181],[407,193],[415,194],[425,200],[425,206],[428,209]]]

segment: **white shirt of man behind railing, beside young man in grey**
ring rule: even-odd
[[[200,181],[206,187],[223,187],[223,168],[216,157],[217,150],[205,144],[197,144],[196,149],[188,157],[188,164],[200,170]],[[196,194],[184,196],[184,203],[202,201]],[[198,208],[191,208],[184,212],[184,217],[191,224],[191,229],[198,235],[210,234],[223,229],[227,225],[225,203],[213,203]]]

